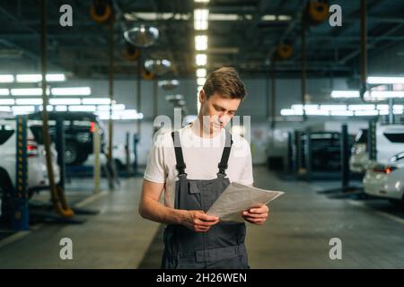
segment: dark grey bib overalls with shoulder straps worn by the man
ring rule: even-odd
[[[226,133],[226,144],[219,162],[217,178],[188,179],[178,132],[171,133],[174,141],[178,178],[175,185],[176,209],[207,211],[230,184],[226,177],[227,161],[232,148],[232,136]],[[164,230],[162,268],[206,269],[249,268],[244,246],[245,223],[218,222],[206,232],[189,230],[183,225],[168,225]]]

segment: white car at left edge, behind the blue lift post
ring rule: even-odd
[[[0,189],[7,190],[15,187],[16,166],[16,133],[15,119],[0,120]],[[48,187],[48,170],[46,166],[45,148],[38,143],[38,138],[32,132],[30,123],[27,128],[28,153],[28,188],[30,194],[34,190]],[[57,165],[57,152],[52,143],[51,147],[55,181],[60,180],[60,170]]]

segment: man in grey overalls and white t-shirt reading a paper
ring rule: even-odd
[[[224,130],[245,95],[233,68],[216,70],[199,92],[198,119],[163,134],[152,147],[139,213],[167,224],[162,268],[249,268],[245,223],[220,222],[206,214],[230,182],[253,183],[249,143]],[[268,206],[250,208],[242,216],[262,224]]]

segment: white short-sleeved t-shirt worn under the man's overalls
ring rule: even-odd
[[[218,164],[222,158],[225,143],[225,130],[222,128],[213,138],[198,136],[191,125],[179,129],[180,144],[185,172],[189,179],[217,178]],[[232,135],[233,145],[229,156],[228,168],[225,170],[230,182],[252,185],[252,162],[250,144],[240,135]],[[175,181],[178,171],[175,168],[174,144],[171,132],[158,135],[148,155],[145,179],[165,183],[164,204],[174,207]]]

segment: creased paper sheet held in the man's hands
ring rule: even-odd
[[[225,222],[244,222],[242,211],[268,204],[283,194],[282,191],[260,189],[232,182],[212,204],[207,214],[219,216],[220,220]]]

